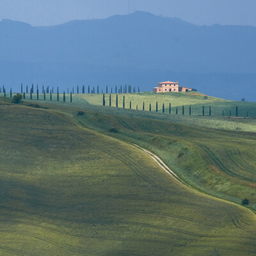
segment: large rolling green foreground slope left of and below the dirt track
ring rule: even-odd
[[[180,184],[138,148],[74,122],[73,109],[1,104],[3,255],[256,252],[252,211]]]

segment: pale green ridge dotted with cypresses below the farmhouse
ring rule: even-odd
[[[0,93],[3,95],[3,93]],[[68,106],[72,108],[87,109],[100,113],[143,117],[156,120],[172,121],[179,124],[188,124],[199,127],[214,129],[224,129],[233,131],[253,131],[256,132],[256,103],[255,102],[234,102],[230,100],[208,97],[198,92],[188,93],[132,93],[125,94],[125,109],[123,108],[124,94],[118,94],[118,108],[116,108],[116,95],[111,96],[111,108],[109,108],[109,94],[105,95],[106,107],[102,107],[102,94],[74,94],[72,103],[70,95],[66,94],[66,102],[63,102],[63,95],[60,94],[60,101],[57,101],[56,93],[50,95],[39,94],[39,100],[36,100],[36,94],[33,94],[33,102],[43,102],[54,106]],[[26,94],[26,100],[29,100],[29,94]],[[4,98],[3,98],[4,99]],[[5,100],[10,99],[10,94],[6,93]],[[132,109],[129,109],[131,100]],[[158,112],[156,113],[156,101],[158,102]],[[145,102],[145,111],[143,108]],[[152,111],[149,111],[149,104],[152,104]],[[164,113],[163,113],[164,103]],[[169,114],[169,104],[172,104],[171,114]],[[138,105],[138,110],[136,106]],[[182,105],[184,105],[184,115],[182,115]],[[189,106],[191,106],[191,116],[189,116]],[[202,107],[205,108],[205,116],[202,116]],[[211,116],[209,116],[209,107],[211,106]],[[238,107],[238,118],[236,118],[236,106]],[[135,110],[134,110],[135,109]],[[176,115],[176,109],[178,113]],[[231,116],[230,116],[231,111]],[[224,112],[224,116],[223,116]],[[248,114],[248,117],[246,117]]]

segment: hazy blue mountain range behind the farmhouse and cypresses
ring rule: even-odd
[[[256,101],[256,28],[196,26],[145,12],[50,27],[0,22],[0,83],[132,84],[158,82],[225,99]]]

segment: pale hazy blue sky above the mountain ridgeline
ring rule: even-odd
[[[0,0],[0,20],[20,20],[33,26],[101,19],[134,10],[200,25],[256,26],[256,0]]]

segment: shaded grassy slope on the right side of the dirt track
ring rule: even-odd
[[[184,181],[256,210],[255,133],[216,131],[146,118],[84,112],[79,122],[157,154]],[[116,133],[109,132],[115,128]]]

